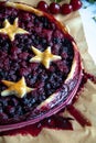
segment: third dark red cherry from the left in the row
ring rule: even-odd
[[[62,14],[70,14],[73,11],[73,7],[71,4],[62,4],[61,13]]]

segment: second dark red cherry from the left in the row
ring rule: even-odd
[[[52,3],[50,4],[50,12],[51,12],[52,14],[57,14],[57,13],[60,13],[60,9],[61,9],[61,7],[60,7],[60,4],[57,4],[56,2],[52,2]]]

